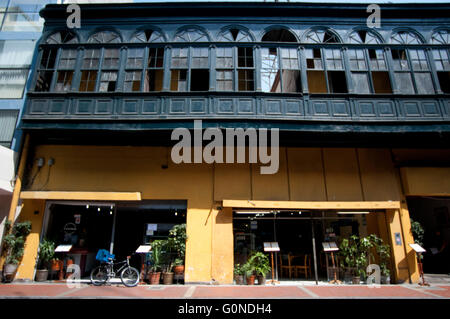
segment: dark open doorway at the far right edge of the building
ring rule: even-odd
[[[408,197],[411,219],[424,230],[422,244],[425,274],[450,275],[450,198]]]

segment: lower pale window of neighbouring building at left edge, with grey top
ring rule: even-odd
[[[0,70],[0,98],[22,98],[28,70]]]

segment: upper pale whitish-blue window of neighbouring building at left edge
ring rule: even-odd
[[[0,67],[29,66],[35,41],[0,41]]]

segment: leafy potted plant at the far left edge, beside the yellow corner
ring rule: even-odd
[[[31,222],[15,223],[5,222],[5,236],[3,237],[2,255],[5,257],[3,278],[10,282],[14,278],[17,267],[22,260],[25,241],[31,232]]]

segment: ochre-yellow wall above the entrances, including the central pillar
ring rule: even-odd
[[[389,151],[382,149],[281,148],[274,175],[260,175],[257,164],[176,165],[165,147],[42,145],[35,150],[35,158],[41,156],[53,157],[55,165],[50,172],[45,166],[28,190],[187,200],[186,282],[232,282],[232,217],[216,209],[223,199],[399,200],[400,194]],[[23,274],[34,262],[27,267]]]

